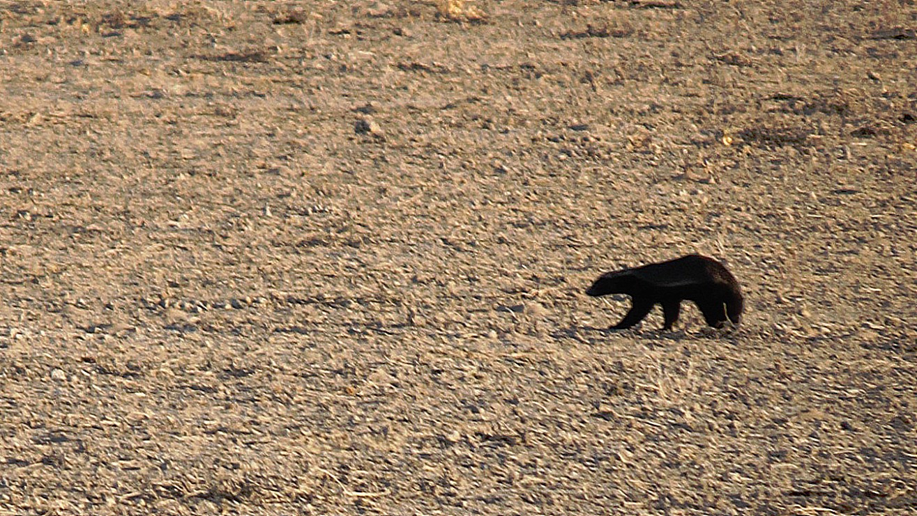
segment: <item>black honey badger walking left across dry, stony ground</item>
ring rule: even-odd
[[[682,301],[692,301],[714,328],[726,321],[739,324],[743,299],[738,281],[724,265],[713,258],[688,255],[635,269],[615,270],[603,274],[586,291],[591,296],[627,294],[634,305],[613,330],[624,330],[639,323],[661,304],[664,330],[670,330],[679,319]]]

